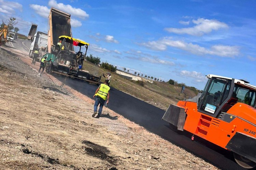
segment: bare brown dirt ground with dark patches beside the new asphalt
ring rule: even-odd
[[[91,117],[93,100],[22,57],[0,49],[0,169],[217,169],[106,107]]]

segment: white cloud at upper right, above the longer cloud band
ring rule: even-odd
[[[197,20],[192,20],[195,27],[190,28],[165,28],[168,32],[173,32],[176,34],[189,34],[189,35],[196,35],[201,36],[206,33],[210,33],[213,30],[218,30],[221,28],[228,28],[228,25],[224,22],[219,22],[214,19],[204,19],[198,18]]]

